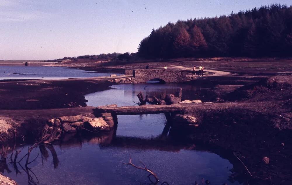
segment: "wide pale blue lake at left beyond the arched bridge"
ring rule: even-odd
[[[8,79],[68,79],[109,76],[109,73],[98,73],[66,67],[49,66],[0,66],[0,80]]]

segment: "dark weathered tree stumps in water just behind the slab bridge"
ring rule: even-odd
[[[160,99],[158,99],[155,95],[153,96],[153,98],[149,98],[148,95],[146,95],[146,97],[144,99],[142,92],[140,92],[137,95],[137,97],[140,101],[139,105],[145,105],[146,102],[149,104],[154,104],[154,105],[171,105],[171,104],[176,104],[176,103],[181,102],[182,88],[180,88],[179,92],[176,92],[174,94],[161,95]]]

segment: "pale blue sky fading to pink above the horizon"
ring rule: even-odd
[[[0,60],[136,52],[152,28],[291,0],[0,0]]]

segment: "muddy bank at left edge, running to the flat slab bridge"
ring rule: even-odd
[[[94,107],[55,108],[42,110],[2,110],[0,112],[0,144],[7,144],[15,136],[21,143],[35,141],[47,120],[61,116],[82,114],[95,117]],[[15,131],[15,132],[14,132]],[[15,135],[14,135],[15,133]]]

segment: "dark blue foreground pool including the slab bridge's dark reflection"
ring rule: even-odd
[[[206,148],[181,142],[180,138],[169,136],[164,131],[152,138],[120,136],[117,135],[117,129],[98,135],[87,132],[65,135],[53,145],[35,148],[31,159],[37,157],[38,153],[41,155],[28,166],[25,166],[25,160],[14,162],[26,154],[27,145],[16,149],[22,150],[18,159],[11,157],[7,163],[2,162],[0,172],[19,184],[78,184],[80,181],[72,181],[79,178],[74,177],[76,171],[82,174],[81,179],[86,179],[83,184],[149,184],[146,172],[122,164],[128,162],[128,154],[131,154],[133,163],[142,160],[158,174],[161,181],[169,183],[190,184],[201,177],[212,180],[214,184],[226,182],[231,175],[229,169],[232,168],[227,160],[206,152]],[[15,156],[15,152],[11,156]],[[184,166],[179,165],[182,162]],[[211,166],[208,163],[217,166],[209,171]],[[11,173],[12,170],[15,173]],[[207,175],[210,172],[214,174]],[[67,176],[72,179],[67,179]]]

